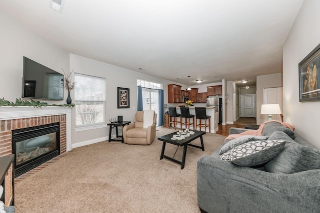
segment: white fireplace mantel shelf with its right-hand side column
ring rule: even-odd
[[[29,106],[1,106],[0,121],[22,119],[31,117],[42,117],[51,115],[65,115],[66,119],[66,151],[71,150],[71,109],[58,106],[47,106],[34,108]]]

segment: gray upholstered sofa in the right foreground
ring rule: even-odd
[[[230,128],[229,134],[246,130]],[[320,212],[320,151],[276,122],[267,123],[262,135],[286,141],[282,151],[262,165],[220,160],[220,148],[198,160],[197,203],[202,213]]]

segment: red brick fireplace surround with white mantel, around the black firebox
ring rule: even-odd
[[[12,130],[59,122],[60,154],[71,150],[70,109],[0,107],[0,156],[12,154]]]

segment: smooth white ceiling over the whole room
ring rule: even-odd
[[[59,13],[49,0],[0,0],[0,9],[70,53],[199,85],[281,72],[302,2],[65,0]]]

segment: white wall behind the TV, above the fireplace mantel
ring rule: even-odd
[[[15,102],[21,97],[23,56],[63,74],[69,68],[69,53],[44,40],[0,10],[0,98]],[[64,100],[67,92],[64,91]],[[65,101],[46,101],[61,104]]]

